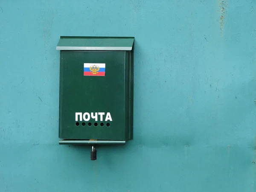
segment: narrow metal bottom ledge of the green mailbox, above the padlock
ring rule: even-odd
[[[101,144],[101,145],[109,145],[109,144],[125,144],[126,141],[108,141],[108,140],[60,140],[59,144],[63,144],[63,145],[92,145],[92,144]],[[93,147],[92,147],[93,149]]]

